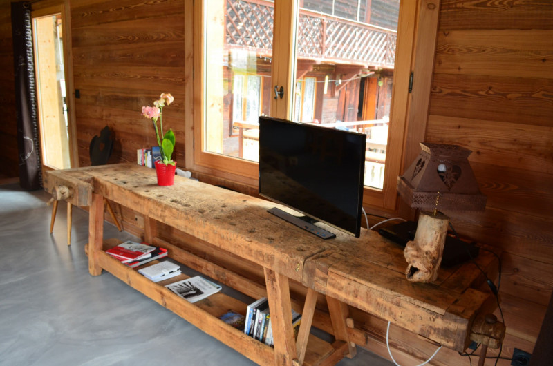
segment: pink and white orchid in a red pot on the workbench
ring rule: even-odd
[[[174,98],[169,93],[161,93],[160,99],[153,102],[153,107],[143,106],[142,115],[151,119],[153,129],[156,131],[156,139],[160,148],[160,159],[154,162],[156,174],[158,175],[158,185],[171,186],[175,179],[176,162],[171,159],[175,148],[175,134],[169,128],[167,133],[163,133],[163,107],[173,103]],[[158,128],[158,120],[160,126]]]

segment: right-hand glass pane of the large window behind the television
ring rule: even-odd
[[[365,133],[364,183],[377,189],[384,185],[399,8],[400,0],[304,0],[297,24],[294,119]]]

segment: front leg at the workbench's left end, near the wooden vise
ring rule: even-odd
[[[88,215],[88,272],[100,276],[102,267],[97,264],[97,253],[102,250],[104,241],[104,198],[92,193],[92,203]]]

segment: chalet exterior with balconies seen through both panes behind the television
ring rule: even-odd
[[[365,133],[364,183],[382,189],[399,0],[299,6],[292,108],[285,118]],[[205,19],[203,146],[256,162],[258,117],[274,115],[274,2],[209,1]]]

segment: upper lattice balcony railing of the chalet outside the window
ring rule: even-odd
[[[270,56],[274,3],[227,0],[226,43]],[[397,32],[301,9],[297,35],[299,59],[393,68]]]

